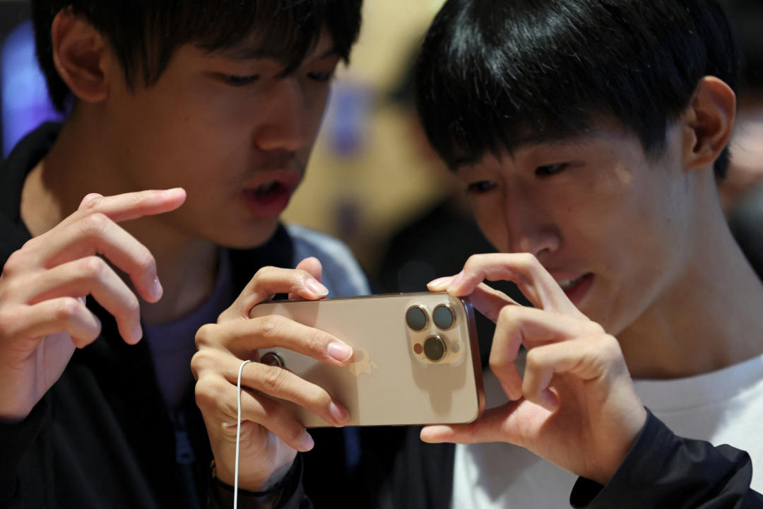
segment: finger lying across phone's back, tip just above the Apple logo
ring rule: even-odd
[[[256,350],[275,346],[332,366],[343,366],[353,358],[353,349],[347,343],[277,315],[204,325],[196,333],[196,346],[224,348],[240,359],[251,359]]]

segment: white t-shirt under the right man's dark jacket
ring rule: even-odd
[[[763,356],[684,379],[636,381],[636,391],[679,436],[747,451],[752,488],[763,491]],[[485,398],[488,408],[506,401],[491,372]],[[507,443],[457,445],[453,475],[453,509],[569,507],[577,479]]]

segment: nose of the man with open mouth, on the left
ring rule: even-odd
[[[306,143],[307,101],[297,79],[273,80],[262,97],[255,144],[260,150],[296,151]]]

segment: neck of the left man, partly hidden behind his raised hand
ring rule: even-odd
[[[91,192],[108,196],[137,191],[121,178],[115,166],[118,162],[110,156],[110,145],[102,132],[95,123],[83,121],[73,111],[50,152],[27,176],[21,218],[34,237],[76,211],[82,198]],[[217,246],[186,234],[173,226],[168,216],[142,217],[120,224],[151,251],[164,288],[158,303],[141,301],[141,318],[146,324],[182,317],[214,288]]]

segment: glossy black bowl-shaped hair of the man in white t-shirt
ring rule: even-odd
[[[703,76],[736,88],[736,44],[713,0],[448,0],[417,63],[417,108],[451,167],[614,118],[645,151]],[[716,160],[723,179],[728,151]]]

